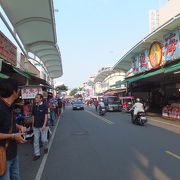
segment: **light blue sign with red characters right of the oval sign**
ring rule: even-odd
[[[180,57],[179,30],[173,30],[163,37],[164,60],[172,60]]]

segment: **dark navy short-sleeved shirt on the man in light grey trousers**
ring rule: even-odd
[[[44,103],[34,105],[32,115],[34,116],[34,127],[41,128],[44,124],[45,114],[48,114],[48,108]]]

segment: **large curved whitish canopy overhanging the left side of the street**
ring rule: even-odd
[[[62,76],[53,0],[0,0],[27,52],[35,54],[51,78]]]

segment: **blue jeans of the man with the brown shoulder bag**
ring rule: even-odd
[[[7,161],[7,171],[4,176],[0,176],[0,180],[20,180],[18,157]]]

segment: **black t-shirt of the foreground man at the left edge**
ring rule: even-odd
[[[8,134],[11,127],[12,118],[12,108],[6,104],[2,99],[0,99],[0,133]],[[16,133],[16,122],[13,119],[13,129],[12,133]],[[17,156],[17,143],[15,140],[0,140],[0,146],[5,146],[6,141],[8,141],[8,147],[6,150],[7,160],[11,160]]]

